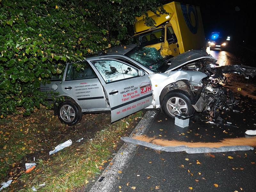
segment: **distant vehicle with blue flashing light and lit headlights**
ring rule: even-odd
[[[221,36],[220,32],[212,32],[211,38],[208,42],[210,50],[224,51],[228,47],[230,36]]]

